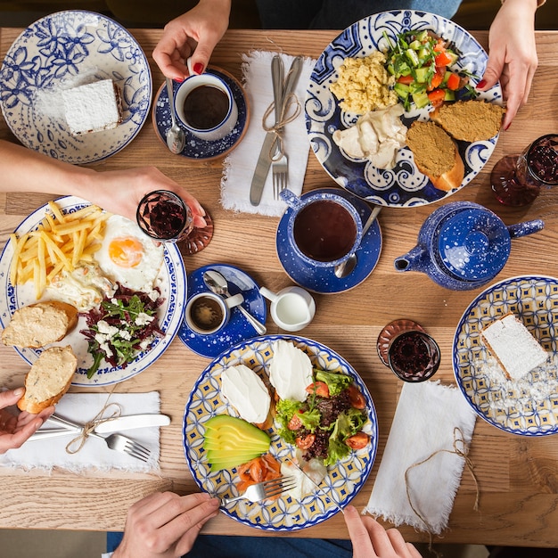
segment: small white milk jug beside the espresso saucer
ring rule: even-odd
[[[271,300],[271,319],[286,332],[298,332],[316,314],[316,302],[312,295],[300,287],[286,287],[277,293],[260,287],[259,292]]]

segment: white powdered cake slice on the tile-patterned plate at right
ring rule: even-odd
[[[480,332],[480,339],[504,369],[509,380],[520,380],[548,357],[525,325],[506,314]]]

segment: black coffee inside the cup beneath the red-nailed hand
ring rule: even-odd
[[[214,86],[195,87],[185,98],[186,122],[197,130],[218,126],[226,118],[228,109],[228,96]]]

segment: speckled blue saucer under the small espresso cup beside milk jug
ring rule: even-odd
[[[244,297],[242,306],[262,324],[266,323],[266,301],[264,297],[259,294],[258,284],[254,282],[250,275],[245,274],[242,269],[238,267],[229,266],[227,264],[213,264],[195,269],[192,273],[188,274],[188,300],[198,292],[209,291],[205,283],[203,283],[203,272],[209,269],[218,271],[226,278],[229,291],[232,295],[237,292],[242,292]],[[194,353],[201,355],[201,357],[214,358],[235,343],[257,337],[258,333],[246,318],[242,316],[241,311],[238,308],[233,308],[228,324],[226,324],[221,332],[211,335],[201,335],[200,333],[193,332],[183,318],[177,335],[180,341],[182,341],[188,349],[193,350]]]

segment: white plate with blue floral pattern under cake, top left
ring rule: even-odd
[[[122,123],[74,136],[61,92],[112,79],[122,97]],[[144,126],[152,74],[142,47],[116,21],[94,12],[56,12],[25,29],[0,70],[4,119],[22,144],[70,163],[103,160],[127,146]]]

